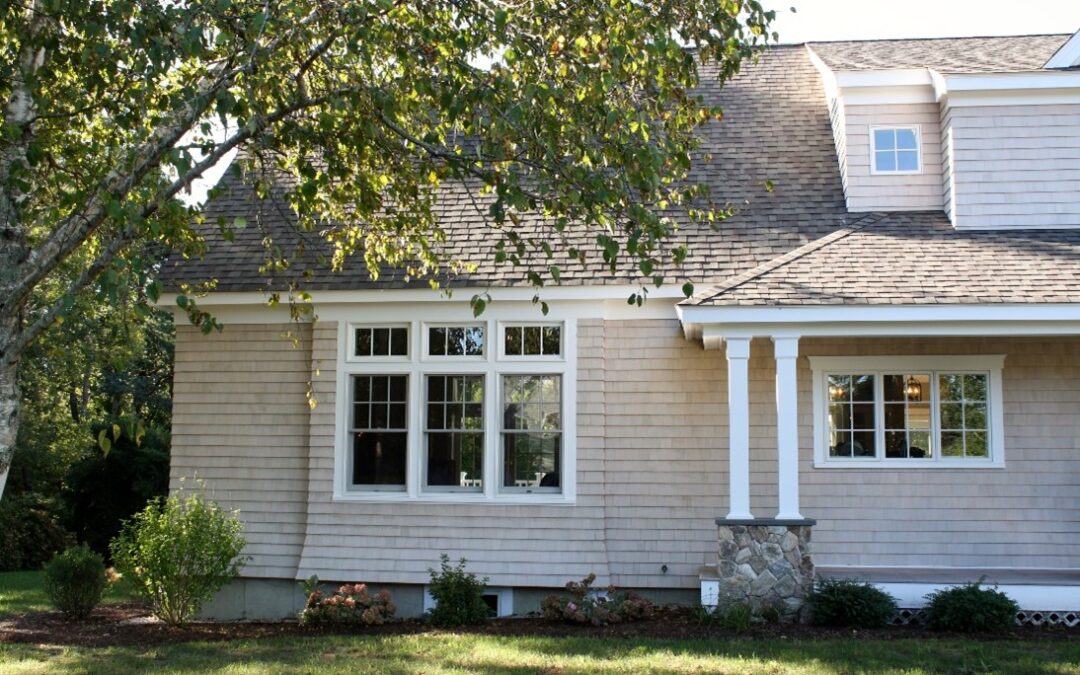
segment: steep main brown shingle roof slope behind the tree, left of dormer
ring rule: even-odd
[[[849,220],[843,202],[833,145],[828,112],[824,105],[821,78],[802,45],[773,48],[757,63],[747,63],[743,72],[723,89],[714,71],[705,70],[701,91],[723,106],[723,122],[704,129],[701,152],[712,161],[697,162],[694,179],[707,181],[713,194],[742,208],[714,231],[706,226],[681,222],[678,234],[690,255],[680,275],[697,282],[716,281],[747,267],[768,260],[791,248],[827,234]],[[228,174],[227,174],[228,175]],[[282,288],[298,279],[303,270],[311,278],[308,289],[394,288],[407,285],[395,270],[384,270],[377,282],[368,276],[361,261],[352,261],[340,273],[332,273],[318,264],[316,252],[325,245],[315,233],[301,237],[291,227],[295,220],[288,206],[280,202],[257,202],[241,181],[226,178],[226,193],[206,208],[210,224],[220,216],[231,222],[237,216],[247,219],[245,230],[233,242],[224,241],[216,225],[202,228],[208,253],[199,259],[167,264],[163,278],[168,287],[180,282],[218,280],[218,291],[259,291]],[[774,190],[765,189],[771,180]],[[437,214],[446,231],[447,255],[474,262],[478,269],[468,276],[451,280],[451,285],[511,285],[524,282],[527,268],[496,265],[492,247],[498,233],[486,218],[486,204],[470,195],[461,184],[444,185]],[[531,227],[539,227],[532,221]],[[294,252],[305,243],[301,255],[287,272],[261,273],[267,234],[283,251]],[[561,260],[564,285],[625,284],[647,282],[633,268],[615,273],[603,266],[593,243],[595,232],[581,232],[575,243],[594,253],[593,264]],[[548,262],[538,261],[538,267]],[[423,285],[423,281],[411,282]]]

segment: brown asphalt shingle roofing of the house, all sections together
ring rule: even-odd
[[[1040,68],[1066,38],[816,43],[811,49],[838,68],[930,66],[976,72]],[[707,288],[689,303],[1080,302],[1080,230],[957,231],[941,212],[849,213],[825,94],[805,45],[765,51],[723,89],[715,73],[706,70],[702,79],[702,92],[723,106],[725,118],[704,129],[701,152],[712,160],[696,162],[694,178],[707,181],[714,194],[741,211],[715,231],[680,224],[676,239],[688,244],[690,255],[675,274]],[[325,242],[318,233],[298,232],[280,197],[258,201],[243,181],[225,180],[224,194],[206,208],[208,224],[201,226],[207,253],[166,262],[166,287],[208,279],[217,280],[217,291],[240,292],[284,289],[301,279],[309,291],[427,284],[389,268],[373,280],[361,260],[332,272],[321,260]],[[774,185],[773,192],[765,190],[766,180]],[[473,193],[463,184],[445,185],[440,192],[444,253],[477,266],[444,283],[525,285],[528,268],[495,262],[499,233],[487,221],[486,204]],[[215,221],[237,216],[246,218],[248,227],[226,241]],[[543,224],[532,218],[523,227]],[[570,242],[590,253],[591,264],[556,259],[564,285],[649,282],[629,266],[610,271],[594,237],[579,231]],[[289,254],[287,270],[261,270],[266,238]],[[550,261],[536,265],[546,268]]]

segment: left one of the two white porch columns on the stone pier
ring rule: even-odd
[[[750,519],[750,338],[725,338],[728,357],[728,518]]]

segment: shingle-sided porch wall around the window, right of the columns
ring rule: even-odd
[[[808,339],[800,352],[1007,355],[1005,469],[985,470],[814,470],[810,370],[799,360],[802,513],[818,518],[819,565],[1077,566],[1080,338]],[[756,342],[753,357],[764,397],[770,346]]]

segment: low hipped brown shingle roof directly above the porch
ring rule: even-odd
[[[702,306],[1080,302],[1080,230],[955,230],[872,214],[686,301]]]

